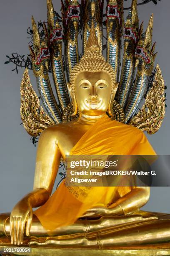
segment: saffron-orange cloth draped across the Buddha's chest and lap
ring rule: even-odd
[[[105,115],[90,126],[70,155],[155,155],[155,151],[138,128],[112,121]],[[80,192],[74,193],[74,189],[62,182],[49,200],[33,213],[44,228],[54,230],[73,224],[92,207],[107,207],[133,188],[77,187]]]

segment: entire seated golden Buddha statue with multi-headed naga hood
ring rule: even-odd
[[[33,71],[47,113],[40,107],[26,69],[21,83],[21,118],[31,136],[41,133],[34,188],[11,213],[0,215],[0,245],[170,248],[170,215],[140,210],[149,200],[150,187],[69,187],[63,180],[52,194],[60,162],[65,162],[66,155],[155,155],[143,133],[158,131],[165,114],[165,86],[159,66],[155,82],[148,88],[155,59],[153,15],[143,33],[142,26],[138,28],[137,2],[133,0],[124,24],[118,82],[122,1],[107,1],[107,60],[102,55],[102,4],[82,1],[81,11],[76,0],[62,4],[67,87],[62,29],[51,0],[47,0],[44,38],[32,18]],[[77,39],[80,24],[81,59]],[[49,64],[57,100],[48,77]],[[136,114],[146,93],[145,104]]]

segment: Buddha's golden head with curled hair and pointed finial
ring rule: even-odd
[[[77,110],[84,115],[112,115],[112,101],[117,90],[115,72],[100,53],[92,26],[85,54],[70,74],[68,89],[72,98],[72,116]]]

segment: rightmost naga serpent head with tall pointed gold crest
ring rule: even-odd
[[[148,28],[140,35],[140,40],[135,51],[136,66],[142,64],[146,72],[151,73],[157,53],[154,53],[155,43],[152,46],[153,15],[150,18]]]

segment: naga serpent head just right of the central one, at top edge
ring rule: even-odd
[[[117,22],[119,28],[122,28],[123,24],[123,5],[122,0],[107,0],[106,7],[106,23],[110,31],[113,24]]]

